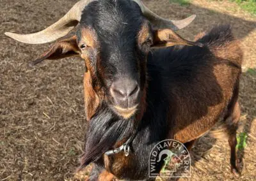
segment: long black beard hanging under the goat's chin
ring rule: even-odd
[[[115,115],[106,105],[101,105],[89,122],[86,132],[85,150],[79,170],[97,161],[105,152],[111,150],[115,143],[128,139],[134,134],[134,119],[122,119]]]

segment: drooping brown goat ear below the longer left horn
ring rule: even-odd
[[[65,57],[72,57],[77,55],[80,55],[80,50],[77,45],[77,37],[72,36],[70,38],[63,39],[54,43],[47,52],[38,57],[38,59],[35,61],[31,62],[30,65],[34,66],[35,64],[38,64],[46,59],[63,59]]]

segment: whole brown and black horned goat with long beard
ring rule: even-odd
[[[90,180],[147,179],[148,157],[156,143],[175,139],[191,148],[220,122],[227,128],[231,170],[239,172],[242,52],[227,25],[214,27],[195,42],[173,32],[193,18],[166,20],[139,0],[79,1],[44,31],[6,33],[34,44],[61,38],[33,64],[78,55],[84,59],[88,130],[81,169],[94,163]],[[105,154],[124,143],[131,148],[129,156]]]

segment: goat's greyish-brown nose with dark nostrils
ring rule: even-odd
[[[112,83],[110,93],[117,106],[131,108],[138,104],[140,87],[135,80],[121,78]]]

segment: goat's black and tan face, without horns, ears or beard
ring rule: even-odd
[[[140,109],[145,88],[153,41],[148,21],[133,1],[95,1],[85,12],[77,43],[96,86],[93,89],[100,87],[97,91],[104,94],[111,110],[128,119]]]

